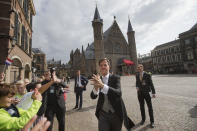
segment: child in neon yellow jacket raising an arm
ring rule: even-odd
[[[32,95],[34,101],[28,110],[22,110],[11,104],[14,95],[10,85],[0,85],[0,131],[22,129],[41,106],[42,96],[37,90]]]

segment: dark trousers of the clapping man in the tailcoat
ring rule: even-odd
[[[99,131],[121,131],[122,121],[116,113],[100,111],[98,119]]]

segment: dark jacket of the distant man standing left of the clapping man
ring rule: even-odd
[[[86,85],[88,84],[88,79],[85,78],[84,76],[80,75],[80,78],[81,78],[81,85],[84,87],[84,88],[81,88],[81,87],[77,87],[77,77],[75,77],[75,87],[74,87],[74,92],[81,92],[81,91],[84,91],[86,90]]]

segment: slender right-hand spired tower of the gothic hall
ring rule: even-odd
[[[128,37],[128,43],[129,43],[130,57],[131,57],[131,60],[135,63],[134,68],[133,68],[133,71],[134,71],[133,73],[135,73],[136,67],[138,64],[137,63],[137,51],[136,51],[136,44],[135,44],[135,31],[133,31],[130,19],[128,22],[127,37]]]

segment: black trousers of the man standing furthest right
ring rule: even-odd
[[[145,107],[144,107],[144,100],[145,100],[146,104],[148,106],[150,122],[154,122],[153,107],[152,107],[152,101],[151,101],[151,96],[150,96],[149,92],[138,91],[138,100],[140,103],[140,111],[141,111],[142,121],[146,120]]]

